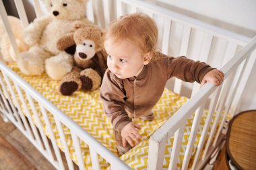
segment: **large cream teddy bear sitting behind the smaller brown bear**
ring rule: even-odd
[[[73,56],[57,48],[57,40],[74,31],[73,23],[92,24],[86,18],[88,0],[43,0],[49,15],[34,19],[25,29],[31,46],[20,54],[18,67],[25,75],[41,75],[44,69],[51,79],[62,79],[73,67]],[[45,66],[44,66],[45,65]]]

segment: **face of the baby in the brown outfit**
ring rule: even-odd
[[[142,71],[145,62],[135,44],[128,41],[113,43],[108,39],[104,46],[108,54],[108,69],[119,79],[137,76]]]

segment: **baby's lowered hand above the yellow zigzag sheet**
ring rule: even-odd
[[[141,136],[138,132],[139,129],[141,129],[141,127],[139,127],[138,124],[131,122],[121,130],[124,147],[127,146],[127,143],[133,147],[133,141],[136,142],[136,144],[139,144],[139,140],[141,139]]]

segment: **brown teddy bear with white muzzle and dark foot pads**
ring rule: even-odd
[[[94,91],[100,87],[106,71],[104,31],[98,26],[75,22],[75,32],[59,39],[57,47],[74,56],[74,66],[60,82],[62,95],[72,95],[79,89]]]

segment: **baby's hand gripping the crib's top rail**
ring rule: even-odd
[[[201,81],[201,86],[205,85],[207,81],[210,81],[214,85],[219,86],[222,84],[223,80],[224,80],[224,73],[222,71],[214,69],[205,74],[205,76],[203,77],[203,80]]]

